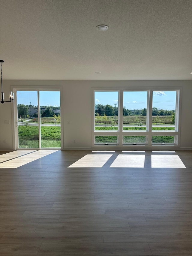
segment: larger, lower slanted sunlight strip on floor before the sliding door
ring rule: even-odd
[[[54,152],[56,152],[58,150],[38,150],[38,151],[35,151],[35,152],[32,152],[29,154],[29,151],[24,151],[25,154],[27,155],[22,155],[18,158],[15,158],[15,159],[11,159],[9,161],[6,161],[6,162],[3,162],[0,164],[0,169],[2,168],[6,168],[6,169],[15,169],[15,168],[18,168],[22,165],[25,165],[25,164],[29,164],[31,163],[32,161],[35,161],[39,158],[42,158],[46,155],[50,155]]]

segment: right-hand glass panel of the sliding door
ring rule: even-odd
[[[61,147],[60,92],[40,91],[41,148]]]

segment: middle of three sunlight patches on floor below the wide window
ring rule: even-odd
[[[144,168],[145,155],[118,155],[110,167]]]

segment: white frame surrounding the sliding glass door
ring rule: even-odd
[[[38,113],[40,114],[39,108],[39,92],[40,91],[59,91],[60,92],[60,114],[61,114],[61,150],[63,150],[63,88],[62,86],[10,86],[11,91],[14,92],[14,104],[11,107],[12,115],[12,131],[13,131],[13,150],[44,150],[44,149],[55,149],[55,148],[41,148],[41,133],[40,133],[40,119],[39,119],[39,148],[19,148],[18,145],[18,118],[17,117],[17,91],[37,91],[38,92]]]

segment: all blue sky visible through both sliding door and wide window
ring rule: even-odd
[[[37,91],[17,91],[17,104],[37,106]],[[118,106],[118,92],[95,92],[95,104]],[[40,91],[40,106],[60,106],[60,92]],[[153,92],[153,107],[174,110],[175,91]],[[147,107],[147,92],[124,92],[123,106],[126,109],[143,109]]]

